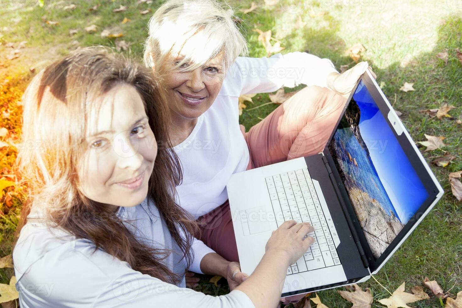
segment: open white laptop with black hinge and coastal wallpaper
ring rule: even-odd
[[[369,279],[443,195],[368,71],[322,153],[234,174],[227,190],[247,274],[281,223],[313,225],[316,241],[287,268],[282,296]]]

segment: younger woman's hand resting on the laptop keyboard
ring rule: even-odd
[[[288,262],[287,266],[290,266],[297,262],[310,245],[315,242],[312,236],[305,238],[308,233],[313,231],[313,226],[309,223],[297,223],[295,220],[288,220],[273,231],[266,243],[266,254],[280,255],[280,262]]]

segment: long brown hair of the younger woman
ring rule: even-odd
[[[95,251],[103,248],[134,270],[165,282],[179,281],[180,277],[163,263],[169,252],[138,241],[106,206],[86,198],[79,189],[77,173],[79,157],[85,151],[88,113],[101,102],[95,98],[119,83],[134,86],[158,142],[148,198],[157,205],[187,267],[191,264],[190,235],[197,231],[197,224],[175,201],[182,171],[175,152],[169,150],[169,111],[159,79],[151,70],[103,47],[78,49],[32,79],[23,96],[23,147],[18,154],[19,169],[30,193],[21,212],[16,241],[34,206],[43,212],[50,227],[61,227],[77,238],[91,240]]]

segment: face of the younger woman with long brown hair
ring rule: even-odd
[[[119,84],[88,120],[79,181],[89,199],[116,206],[140,204],[147,195],[157,143],[144,104],[132,85]]]

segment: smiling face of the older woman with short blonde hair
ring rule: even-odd
[[[223,55],[219,54],[205,65],[187,72],[179,72],[175,68],[180,60],[181,56],[166,60],[168,73],[164,85],[168,91],[168,104],[174,117],[194,120],[212,106],[223,85],[226,75]],[[182,69],[187,67],[188,64],[185,64]]]

